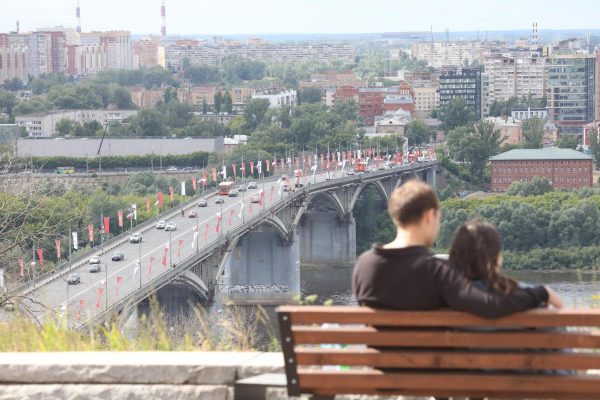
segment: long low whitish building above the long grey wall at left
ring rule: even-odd
[[[137,110],[62,110],[22,115],[16,117],[15,124],[25,127],[30,137],[49,137],[57,134],[56,123],[61,119],[70,119],[80,124],[95,120],[105,126],[136,114]]]

